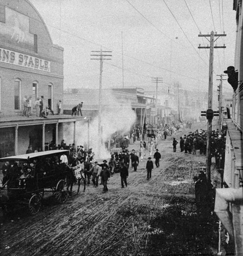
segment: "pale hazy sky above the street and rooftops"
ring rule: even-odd
[[[54,44],[64,48],[64,89],[99,88],[100,61],[91,51],[112,51],[104,60],[102,88],[155,87],[208,91],[209,42],[199,33],[227,36],[215,41],[213,90],[234,66],[233,0],[30,0]],[[209,38],[209,37],[207,37]],[[124,70],[124,76],[123,76]],[[226,77],[227,78],[227,77]],[[223,93],[232,92],[227,81]]]

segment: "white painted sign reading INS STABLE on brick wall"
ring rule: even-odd
[[[51,72],[51,61],[0,48],[0,62]]]

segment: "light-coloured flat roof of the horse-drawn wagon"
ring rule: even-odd
[[[51,155],[67,153],[67,152],[68,150],[49,150],[49,151],[35,152],[30,154],[18,155],[18,156],[4,157],[4,158],[0,158],[0,161],[28,161],[31,159],[34,160],[37,157],[51,156]]]

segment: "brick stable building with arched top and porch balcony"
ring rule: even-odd
[[[29,145],[44,150],[45,142],[58,144],[65,125],[75,141],[77,118],[36,116],[37,97],[43,95],[54,113],[63,102],[64,49],[53,44],[35,7],[27,0],[0,0],[0,35],[0,157],[24,154]],[[31,117],[22,116],[25,96],[32,96]]]

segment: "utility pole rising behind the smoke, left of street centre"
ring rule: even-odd
[[[96,58],[91,58],[95,60],[100,60],[100,87],[99,87],[99,119],[98,119],[98,156],[101,156],[101,145],[102,145],[102,127],[101,127],[101,112],[102,112],[102,107],[101,107],[101,96],[102,96],[102,71],[103,71],[103,60],[109,60],[112,55],[107,54],[111,53],[111,51],[102,51],[102,48],[100,51],[91,51],[91,52],[96,52],[99,54],[90,54],[90,56],[96,56]],[[104,54],[105,53],[105,54]]]

